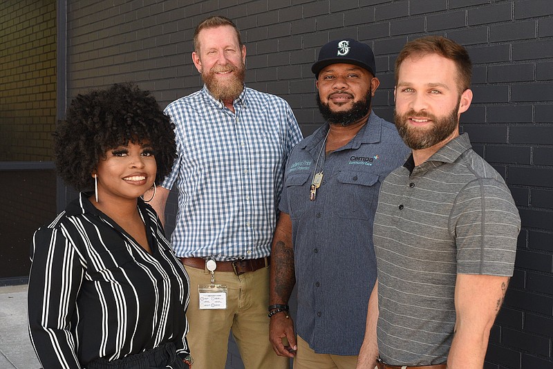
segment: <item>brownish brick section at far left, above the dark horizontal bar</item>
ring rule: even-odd
[[[0,1],[0,161],[52,160],[56,2]]]

